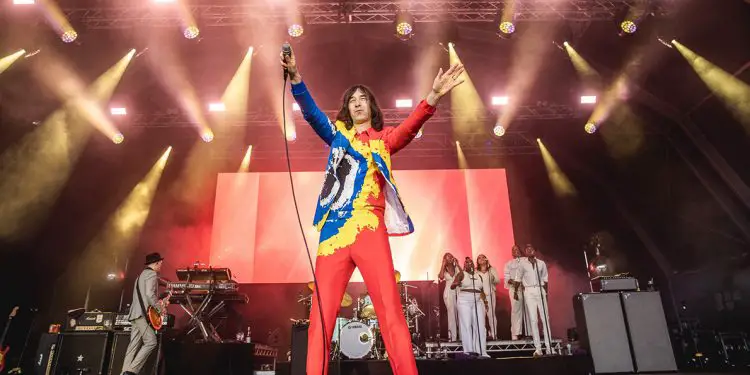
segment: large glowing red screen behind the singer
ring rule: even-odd
[[[312,226],[323,172],[292,174],[299,213],[313,254]],[[434,280],[442,255],[463,261],[485,254],[502,269],[514,243],[503,169],[396,171],[401,198],[415,231],[391,237],[393,262],[402,280]],[[222,173],[210,262],[227,266],[241,283],[300,283],[312,279],[285,172]],[[352,281],[361,281],[355,272]]]

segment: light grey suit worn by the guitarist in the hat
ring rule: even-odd
[[[159,309],[156,297],[158,286],[156,271],[146,268],[138,276],[136,283],[141,289],[144,307],[148,309],[149,306],[154,306]],[[130,331],[130,343],[125,352],[125,361],[122,364],[122,372],[129,371],[138,374],[151,352],[156,348],[157,341],[156,332],[144,316],[138,300],[138,289],[135,286],[133,287],[133,301],[130,303],[128,320],[130,320],[132,330]]]

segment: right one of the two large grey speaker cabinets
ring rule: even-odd
[[[636,371],[677,371],[659,292],[623,292],[622,303]]]

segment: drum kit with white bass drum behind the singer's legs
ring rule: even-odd
[[[401,306],[406,317],[406,322],[411,333],[414,350],[418,353],[421,349],[416,345],[419,342],[419,318],[425,316],[420,310],[417,300],[409,297],[409,289],[417,288],[401,281],[401,273],[395,272],[396,283],[401,295]],[[308,288],[313,291],[315,285],[313,282],[308,283]],[[312,303],[312,294],[302,297],[298,302],[310,307]],[[341,307],[350,307],[355,301],[349,293],[344,293],[341,301]],[[341,314],[340,314],[341,315]],[[375,306],[372,298],[368,293],[363,293],[356,299],[353,314],[351,318],[339,316],[336,318],[333,337],[331,338],[332,359],[385,359],[387,354],[383,344],[383,338],[380,333],[378,316],[375,312]]]

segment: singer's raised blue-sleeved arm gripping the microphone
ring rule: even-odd
[[[302,75],[299,74],[299,70],[297,69],[297,60],[294,57],[294,52],[290,56],[281,54],[281,66],[289,72],[292,81],[292,95],[297,104],[299,104],[302,117],[312,126],[315,133],[326,144],[330,145],[333,142],[333,136],[336,134],[336,127],[325,113],[318,108],[307,86],[302,82]]]

